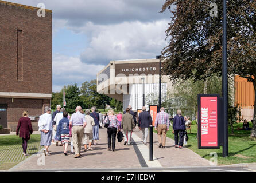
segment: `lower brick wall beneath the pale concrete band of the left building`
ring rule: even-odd
[[[50,100],[45,99],[23,99],[23,98],[0,98],[0,104],[7,104],[8,128],[15,131],[18,120],[22,117],[24,110],[28,111],[29,116],[35,116],[32,120],[33,130],[38,130],[38,117],[44,113],[44,107],[50,106]]]

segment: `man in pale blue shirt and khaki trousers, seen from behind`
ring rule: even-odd
[[[84,134],[84,128],[86,127],[86,118],[82,113],[80,113],[81,110],[82,108],[80,106],[77,106],[76,113],[73,113],[69,120],[69,125],[72,126],[72,140],[73,146],[75,148],[75,158],[82,156],[80,154],[81,144]]]

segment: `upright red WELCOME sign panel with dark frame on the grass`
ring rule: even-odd
[[[219,149],[220,113],[218,94],[198,95],[198,148]]]

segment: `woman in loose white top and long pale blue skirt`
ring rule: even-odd
[[[49,153],[49,146],[52,142],[52,116],[51,108],[45,107],[44,114],[39,117],[38,126],[41,131],[41,146],[44,146],[44,154],[47,156]]]

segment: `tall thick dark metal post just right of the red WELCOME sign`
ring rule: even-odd
[[[227,83],[227,1],[223,0],[223,63],[222,63],[222,96],[223,96],[223,131],[224,145],[222,156],[228,156],[228,83]]]

